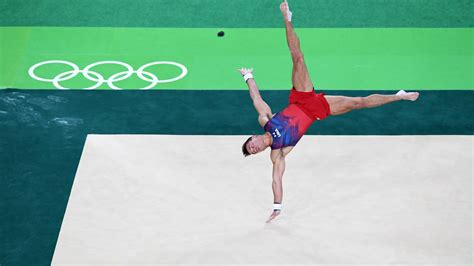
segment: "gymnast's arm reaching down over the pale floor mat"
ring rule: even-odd
[[[274,150],[271,153],[271,159],[273,162],[273,212],[267,220],[267,223],[271,222],[281,213],[281,203],[283,200],[283,174],[285,173],[285,156],[281,150]]]

